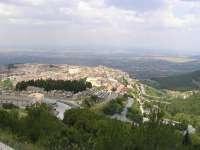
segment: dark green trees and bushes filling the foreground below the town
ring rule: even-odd
[[[159,116],[155,113],[150,122],[134,126],[87,109],[66,111],[59,120],[45,104],[33,105],[23,113],[17,108],[1,108],[0,140],[16,150],[198,149],[189,134],[184,136],[173,126],[163,125]],[[5,133],[9,138],[2,138]]]

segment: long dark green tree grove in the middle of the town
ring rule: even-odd
[[[45,91],[51,90],[63,90],[78,93],[91,88],[92,84],[86,82],[85,79],[80,80],[52,80],[52,79],[39,79],[39,80],[29,80],[17,83],[16,90],[23,91],[26,90],[28,86],[44,88]]]

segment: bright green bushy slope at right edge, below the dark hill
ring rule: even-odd
[[[200,144],[200,93],[193,94],[186,99],[177,97],[167,100],[171,104],[163,109],[165,117],[192,124],[196,128],[196,134],[193,136],[198,139],[195,143]]]

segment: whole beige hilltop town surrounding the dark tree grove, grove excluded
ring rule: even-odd
[[[110,101],[120,95],[124,95],[133,88],[137,81],[129,77],[129,74],[121,70],[104,66],[86,67],[75,65],[48,65],[48,64],[13,64],[0,73],[1,95],[4,100],[25,100],[23,103],[44,101],[46,98],[56,99],[70,106],[82,106],[84,100],[90,96],[96,96],[98,100]],[[17,91],[16,85],[29,80],[80,80],[85,79],[92,84],[91,89],[73,93],[70,91],[45,91],[38,87],[28,87],[25,91]],[[5,87],[10,86],[10,87]],[[26,98],[27,97],[27,98]],[[32,100],[30,100],[30,97]],[[18,101],[19,102],[19,101]],[[49,102],[49,101],[48,101]]]

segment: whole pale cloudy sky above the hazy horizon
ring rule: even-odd
[[[200,0],[0,0],[0,46],[200,52]]]

